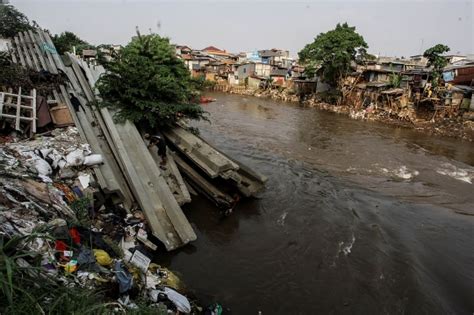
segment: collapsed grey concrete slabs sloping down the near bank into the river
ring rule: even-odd
[[[104,199],[112,200],[113,204],[121,205],[127,211],[139,207],[148,221],[150,233],[167,250],[195,240],[196,234],[180,205],[191,201],[187,187],[195,187],[196,182],[191,185],[186,176],[183,178],[180,173],[182,168],[179,163],[175,163],[171,153],[168,167],[160,168],[159,157],[153,149],[147,149],[145,140],[135,125],[128,122],[116,123],[109,109],[89,106],[100,100],[94,86],[104,69],[90,66],[72,54],[59,58],[54,53],[49,34],[41,30],[22,35],[29,41],[15,42],[13,60],[25,67],[62,73],[65,76],[64,84],[52,91],[52,97],[48,101],[67,106],[79,136],[84,143],[89,144],[89,151],[95,154],[80,156],[79,151],[70,152],[69,159],[76,163],[97,164],[91,178],[95,178]],[[50,49],[39,49],[45,42]],[[38,62],[34,62],[33,58]],[[70,95],[74,95],[79,104],[74,105]],[[239,175],[239,164],[194,137],[185,128],[172,126],[165,132],[170,147],[178,151],[190,163],[191,168],[204,171],[203,175],[211,180],[220,178],[224,186],[229,186],[227,184],[230,183],[230,186],[235,187],[232,191],[223,192],[229,194],[225,211],[229,212],[235,206],[240,195],[254,196],[263,189],[263,176]],[[38,167],[43,164],[38,159],[37,163]],[[67,173],[67,167],[64,172]],[[49,174],[47,167],[44,173],[46,179]],[[216,189],[217,187],[222,190],[220,184]],[[207,187],[204,185],[198,190],[205,194]]]

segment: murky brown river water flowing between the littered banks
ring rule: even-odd
[[[164,257],[231,314],[472,314],[474,144],[295,104],[210,94],[219,149],[266,175],[198,240]]]

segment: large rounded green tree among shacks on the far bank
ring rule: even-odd
[[[351,62],[364,60],[368,48],[364,38],[356,33],[355,27],[347,23],[337,24],[334,30],[320,33],[312,43],[299,53],[308,72],[317,73],[326,83],[337,86],[340,79],[349,72]]]

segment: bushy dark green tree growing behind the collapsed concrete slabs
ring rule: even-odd
[[[98,89],[103,105],[116,109],[119,121],[154,128],[179,117],[205,118],[201,106],[193,102],[195,84],[169,39],[138,33],[104,66],[107,72]]]

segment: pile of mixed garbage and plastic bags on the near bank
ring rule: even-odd
[[[34,270],[38,283],[106,291],[112,311],[136,309],[136,300],[158,314],[203,311],[173,272],[152,263],[157,246],[143,213],[100,200],[94,165],[102,157],[76,128],[0,143],[0,246],[19,240],[15,250],[27,254],[16,265]]]

